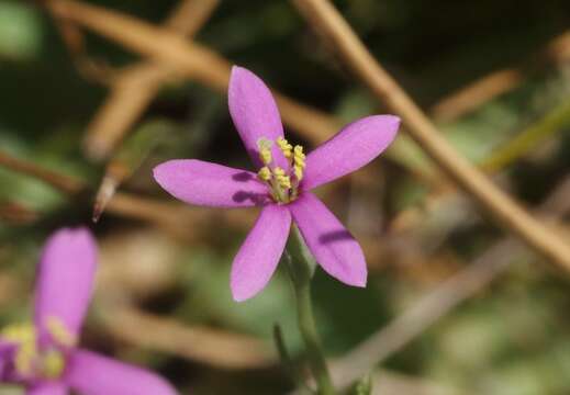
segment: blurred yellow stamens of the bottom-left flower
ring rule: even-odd
[[[52,343],[45,349],[38,347],[37,331],[32,324],[14,324],[4,328],[0,337],[18,345],[13,357],[13,368],[22,379],[57,379],[66,366],[65,350],[76,343],[64,323],[56,317],[48,317],[47,332]]]

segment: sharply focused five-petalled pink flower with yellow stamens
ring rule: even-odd
[[[266,286],[283,252],[291,221],[328,274],[365,286],[362,249],[311,190],[375,159],[395,137],[400,119],[375,115],[356,121],[305,157],[301,146],[293,147],[283,138],[271,92],[253,72],[232,69],[228,103],[257,173],[182,159],[157,166],[154,177],[166,191],[190,204],[261,207],[232,266],[234,300],[245,301]]]

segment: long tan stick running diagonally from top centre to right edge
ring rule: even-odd
[[[570,270],[570,246],[534,219],[442,137],[435,125],[376,61],[338,11],[326,0],[293,0],[312,25],[326,34],[368,88],[399,114],[412,138],[505,228],[543,256]]]

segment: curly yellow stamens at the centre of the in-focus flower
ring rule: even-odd
[[[273,142],[264,137],[257,142],[259,159],[264,163],[264,167],[257,172],[257,177],[269,187],[269,193],[276,203],[286,204],[299,196],[299,184],[303,179],[305,168],[305,155],[302,146],[297,145],[293,148],[283,137],[279,137],[275,144],[283,153],[291,170],[286,172],[279,166],[271,166]]]

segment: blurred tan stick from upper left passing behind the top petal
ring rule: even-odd
[[[195,79],[223,93],[227,91],[231,64],[200,44],[191,43],[179,34],[155,27],[135,18],[87,3],[47,0],[45,4],[56,18],[81,24],[131,50],[170,65],[177,77]],[[328,139],[343,126],[343,123],[334,116],[301,104],[279,92],[273,91],[273,94],[283,122],[313,145]],[[398,161],[418,180],[433,183],[434,174],[431,169],[414,167],[395,154],[389,150],[387,157]]]

